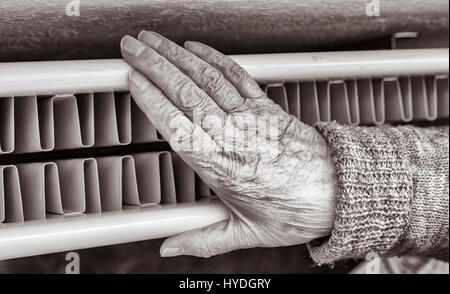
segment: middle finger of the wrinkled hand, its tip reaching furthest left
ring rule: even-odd
[[[147,76],[187,117],[193,119],[194,109],[200,114],[214,114],[223,119],[225,113],[188,76],[145,43],[125,36],[122,55],[134,68]]]

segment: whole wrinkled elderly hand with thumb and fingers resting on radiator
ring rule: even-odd
[[[273,103],[248,73],[198,42],[125,36],[136,103],[172,148],[230,208],[229,220],[167,239],[162,256],[209,257],[326,236],[334,170],[312,127]]]

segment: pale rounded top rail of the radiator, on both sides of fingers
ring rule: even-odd
[[[261,83],[448,74],[449,49],[231,55]],[[0,63],[0,97],[125,91],[121,59]]]

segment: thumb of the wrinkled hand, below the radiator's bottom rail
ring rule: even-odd
[[[240,234],[233,218],[208,227],[181,233],[161,245],[161,257],[193,255],[211,257],[236,249],[251,247]]]

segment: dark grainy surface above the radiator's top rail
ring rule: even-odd
[[[423,47],[448,47],[447,0],[0,0],[0,61],[120,57],[125,34],[155,30],[227,54],[354,49],[417,31]]]

